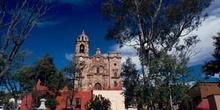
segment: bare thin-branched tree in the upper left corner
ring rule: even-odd
[[[0,1],[0,78],[8,72],[21,45],[52,8],[45,0]]]

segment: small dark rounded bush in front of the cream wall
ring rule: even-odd
[[[86,110],[110,110],[111,102],[102,95],[93,95],[92,99],[86,103]]]

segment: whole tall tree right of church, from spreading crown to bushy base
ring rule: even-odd
[[[174,104],[187,100],[185,85],[190,72],[187,63],[193,55],[192,48],[199,42],[196,35],[189,33],[207,17],[203,11],[211,2],[107,0],[103,3],[101,11],[105,19],[114,23],[105,38],[115,40],[120,46],[131,44],[139,55],[143,77],[136,89],[142,97],[138,104],[152,109],[158,103],[168,106],[170,94]],[[168,55],[171,50],[174,55]]]

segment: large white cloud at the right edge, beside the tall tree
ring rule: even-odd
[[[200,49],[200,52],[191,58],[190,65],[203,64],[212,58],[214,50],[212,37],[220,31],[219,26],[220,16],[210,16],[197,31],[193,32],[193,34],[198,35],[201,42],[196,46],[196,49]]]

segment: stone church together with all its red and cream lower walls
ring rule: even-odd
[[[72,91],[68,87],[60,90],[56,97],[56,110],[85,110],[85,104],[93,95],[102,95],[111,101],[111,110],[125,110],[125,98],[122,91],[121,54],[108,53],[104,56],[97,48],[94,55],[89,56],[89,37],[84,31],[76,38],[73,60],[75,62],[74,84]],[[45,86],[36,84],[38,95],[53,94]],[[21,103],[22,110],[32,105],[32,94],[27,94]],[[73,99],[73,100],[72,100]]]

